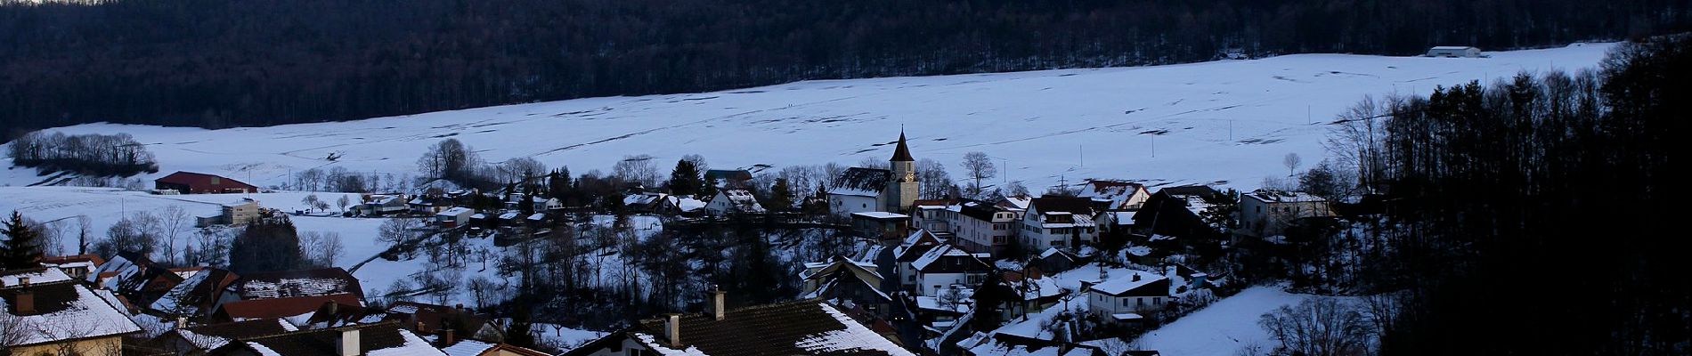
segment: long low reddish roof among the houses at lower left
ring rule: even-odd
[[[228,285],[244,300],[286,299],[308,295],[352,294],[364,299],[359,278],[340,267],[315,270],[254,272]]]

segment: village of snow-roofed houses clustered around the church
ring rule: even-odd
[[[5,331],[22,337],[8,339],[8,348],[24,354],[80,349],[85,354],[340,356],[826,351],[1144,356],[1159,351],[1132,343],[1142,332],[1252,283],[1274,280],[1264,272],[1247,273],[1242,255],[1259,256],[1255,263],[1293,260],[1296,243],[1286,231],[1325,224],[1337,219],[1335,209],[1340,209],[1325,197],[1298,191],[1239,194],[1210,186],[1149,187],[1117,179],[1085,179],[1039,196],[1022,187],[988,191],[980,182],[934,189],[922,186],[922,179],[934,175],[919,172],[914,154],[919,152],[900,133],[885,165],[839,169],[832,182],[819,181],[805,196],[795,196],[787,177],[775,179],[773,187],[760,187],[756,175],[768,172],[697,172],[684,160],[662,186],[629,181],[607,189],[606,196],[552,189],[548,184],[558,184],[558,174],[530,172],[521,182],[491,192],[430,184],[411,192],[362,194],[355,202],[345,196],[330,202],[313,194],[301,201],[305,209],[293,211],[239,197],[262,191],[250,184],[176,172],[157,179],[152,194],[230,197],[222,209],[195,216],[198,228],[288,224],[291,216],[382,218],[393,223],[372,235],[403,236],[391,238],[393,248],[381,258],[415,258],[437,240],[448,250],[457,246],[453,241],[484,241],[475,245],[506,253],[550,251],[563,240],[599,240],[594,229],[626,231],[636,224],[662,224],[656,229],[682,238],[704,236],[687,231],[744,228],[804,231],[834,248],[755,272],[778,273],[780,278],[766,278],[777,285],[734,290],[694,280],[685,283],[690,287],[668,290],[668,299],[641,297],[648,300],[645,309],[618,310],[655,312],[626,316],[638,322],[589,332],[572,344],[538,344],[535,339],[545,337],[548,329],[513,316],[538,309],[518,304],[547,300],[530,292],[545,283],[531,282],[543,278],[531,273],[558,270],[540,267],[543,263],[533,258],[553,255],[530,256],[530,265],[499,260],[514,265],[503,265],[499,277],[521,282],[503,283],[506,300],[489,297],[494,300],[484,302],[484,294],[496,294],[465,287],[474,289],[472,305],[464,299],[431,297],[440,290],[423,282],[418,289],[394,287],[372,295],[379,285],[360,285],[340,267],[237,273],[157,263],[137,251],[42,256],[39,268],[3,272],[0,295],[8,305],[5,322],[10,322]],[[584,177],[567,186],[585,184]],[[338,204],[340,213],[330,214],[330,204]],[[640,233],[607,236],[653,240]],[[816,240],[800,240],[800,245],[816,245]],[[313,246],[301,243],[299,248]],[[442,255],[440,250],[428,253]],[[489,263],[487,250],[481,253],[481,263]],[[623,250],[607,248],[606,253],[621,258],[611,263],[636,263]],[[597,262],[609,265],[604,258]],[[601,273],[601,268],[613,267],[577,273]],[[667,290],[656,287],[660,280],[650,272],[643,277],[648,280],[624,292],[656,295]],[[640,292],[641,287],[648,292]],[[751,297],[770,290],[797,292]],[[585,324],[580,321],[592,317],[540,319]]]

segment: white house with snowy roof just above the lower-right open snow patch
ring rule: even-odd
[[[1169,278],[1151,272],[1129,270],[1086,289],[1088,312],[1103,321],[1137,322],[1174,302]]]

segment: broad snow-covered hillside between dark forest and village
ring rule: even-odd
[[[1491,52],[1484,59],[1299,54],[1154,67],[1063,69],[932,78],[802,81],[697,94],[587,98],[342,123],[262,128],[78,125],[66,133],[134,135],[174,170],[274,186],[327,165],[415,174],[430,143],[455,137],[489,160],[535,157],[574,172],[623,155],[660,162],[702,154],[712,167],[856,164],[885,159],[900,127],[917,159],[961,177],[963,154],[1000,159],[1039,191],[1059,179],[1228,182],[1249,189],[1284,175],[1281,157],[1311,165],[1335,113],[1364,94],[1426,93],[1437,84],[1518,71],[1596,66],[1609,44]],[[342,159],[330,162],[325,157]],[[10,165],[8,162],[5,165]],[[660,164],[668,169],[668,164]],[[42,181],[0,170],[0,186]]]

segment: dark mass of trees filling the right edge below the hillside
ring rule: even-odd
[[[1692,37],[1602,71],[1365,101],[1338,152],[1384,194],[1382,354],[1685,354],[1692,270],[1672,157]],[[1350,154],[1347,154],[1350,152]]]

